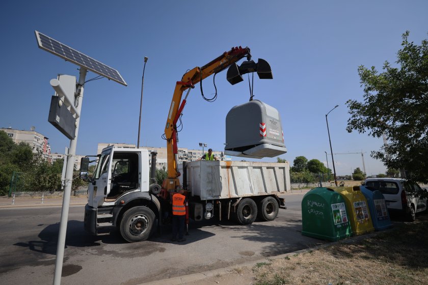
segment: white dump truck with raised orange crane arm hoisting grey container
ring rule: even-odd
[[[247,61],[238,67],[235,63],[245,56]],[[118,229],[128,242],[147,240],[154,229],[159,229],[171,216],[171,198],[179,190],[184,190],[188,201],[186,216],[195,221],[234,219],[246,225],[257,217],[274,220],[279,208],[286,208],[284,198],[279,195],[290,189],[288,162],[199,160],[177,163],[176,124],[194,84],[228,67],[228,81],[232,84],[238,82],[242,74],[255,71],[260,73],[261,79],[269,79],[272,75],[269,74],[269,64],[266,64],[261,59],[254,63],[248,47],[236,47],[207,65],[186,72],[177,81],[165,127],[168,178],[162,186],[155,178],[156,152],[150,153],[150,160],[146,149],[107,147],[97,156],[97,165],[91,177],[88,174],[89,157],[82,158],[81,178],[89,182],[85,230],[93,235],[102,235]],[[186,90],[188,92],[181,100]],[[236,139],[231,139],[234,145],[231,144],[233,148],[230,151],[241,157],[266,154],[273,157],[286,152],[283,136],[281,140],[279,115],[269,105],[252,102],[252,108],[255,105],[268,110],[269,118],[263,120],[272,122],[272,127],[268,127],[272,134],[269,137],[264,129],[264,135],[260,134],[261,143],[252,141],[246,150],[236,145]],[[237,110],[245,113],[243,108]],[[266,128],[265,123],[261,124]],[[257,137],[258,128],[257,123]]]

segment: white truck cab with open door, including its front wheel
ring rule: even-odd
[[[161,203],[149,193],[148,161],[149,154],[144,149],[112,146],[102,150],[93,176],[86,179],[89,182],[85,207],[87,232],[97,235],[118,227],[129,242],[150,236]]]

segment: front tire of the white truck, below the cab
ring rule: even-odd
[[[147,207],[130,208],[123,214],[120,234],[128,242],[145,241],[149,238],[155,215]]]

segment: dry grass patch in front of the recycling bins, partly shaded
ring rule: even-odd
[[[255,285],[427,284],[428,221],[254,266]]]

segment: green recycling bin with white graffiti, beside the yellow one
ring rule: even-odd
[[[351,236],[343,197],[333,189],[318,187],[302,200],[302,235],[329,241]]]

